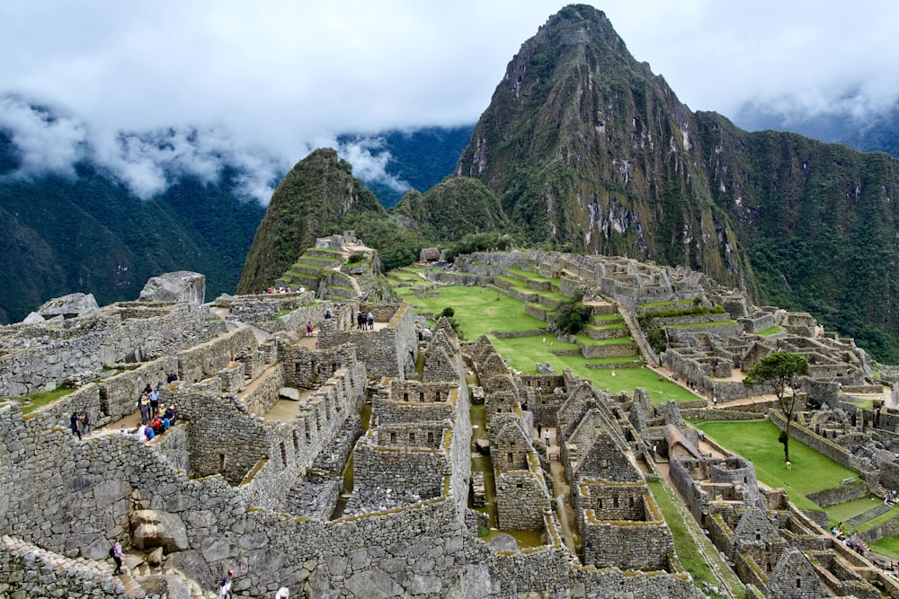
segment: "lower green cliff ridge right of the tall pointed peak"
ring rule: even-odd
[[[899,161],[697,114],[717,206],[732,216],[766,303],[814,313],[899,359]]]

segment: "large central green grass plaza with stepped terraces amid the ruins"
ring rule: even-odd
[[[659,380],[658,374],[649,368],[642,367],[641,357],[583,357],[581,346],[564,343],[555,336],[547,334],[547,323],[525,313],[526,302],[506,295],[499,288],[484,286],[436,286],[419,275],[423,269],[406,267],[387,273],[388,280],[394,285],[396,293],[414,306],[416,313],[439,314],[446,307],[455,311],[463,336],[467,340],[486,335],[494,344],[494,348],[507,360],[512,368],[525,374],[537,374],[537,363],[549,363],[556,372],[561,373],[568,368],[583,379],[590,379],[598,389],[610,392],[633,393],[636,387],[642,387],[651,393],[654,402],[663,401],[697,401],[686,389],[667,379]],[[558,279],[539,277],[521,269],[507,269],[511,275],[528,277],[547,282],[558,288]],[[565,295],[557,291],[537,291],[527,287],[522,278],[503,277],[502,285],[509,286],[521,294],[536,299],[531,305],[540,305],[547,312],[556,309]],[[419,291],[428,289],[427,296],[416,296]],[[618,314],[598,314],[593,316],[589,325],[597,330],[627,329],[627,325]],[[496,333],[532,331],[525,337],[500,338]],[[592,348],[606,344],[633,343],[629,337],[614,339],[593,339],[585,331],[576,336],[583,346]],[[565,353],[566,355],[558,355]],[[571,355],[567,355],[571,354]],[[597,367],[599,366],[599,367]]]

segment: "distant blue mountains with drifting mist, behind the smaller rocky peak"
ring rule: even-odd
[[[394,130],[335,145],[396,203],[449,174],[470,130]],[[0,260],[14,267],[0,273],[0,323],[76,291],[103,304],[135,299],[147,278],[171,270],[205,274],[210,298],[234,293],[288,170],[222,129],[110,135],[66,110],[0,98]]]

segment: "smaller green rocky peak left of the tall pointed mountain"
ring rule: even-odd
[[[319,149],[296,164],[271,195],[263,222],[247,254],[237,293],[270,286],[316,237],[333,233],[345,216],[371,213],[383,218],[378,198],[352,176],[352,166],[331,148]]]

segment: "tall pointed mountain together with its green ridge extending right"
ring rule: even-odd
[[[527,242],[701,269],[899,360],[895,159],[694,114],[590,6],[522,45],[456,172]]]

